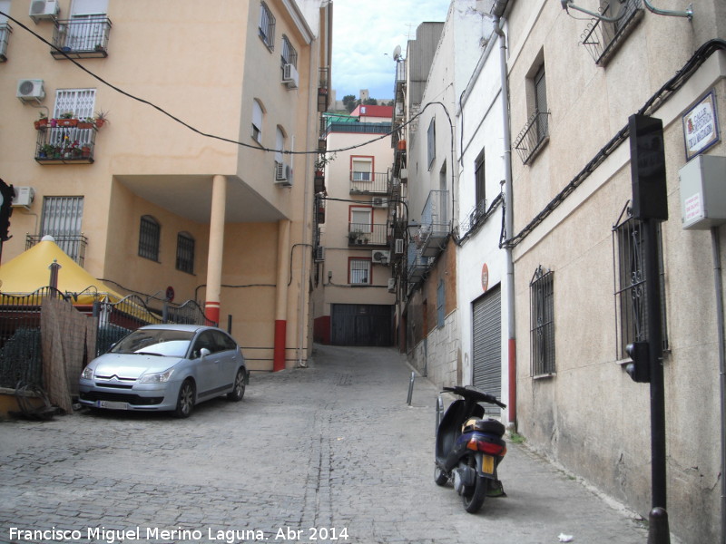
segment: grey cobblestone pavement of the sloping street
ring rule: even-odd
[[[643,543],[641,523],[522,446],[467,514],[433,479],[437,390],[387,348],[317,346],[190,419],[0,423],[0,542]],[[32,532],[29,532],[32,531]],[[44,531],[44,532],[39,532]]]

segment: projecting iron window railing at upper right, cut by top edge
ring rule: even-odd
[[[643,18],[641,0],[626,0],[624,4],[610,2],[603,7],[601,13],[606,17],[616,17],[623,10],[623,16],[614,23],[593,19],[584,29],[582,44],[599,66],[607,63],[620,44],[623,43],[624,38],[633,31],[635,25]]]

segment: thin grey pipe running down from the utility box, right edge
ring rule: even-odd
[[[719,327],[719,374],[721,384],[721,544],[726,543],[726,341],[723,333],[723,284],[721,281],[721,235],[718,227],[711,228],[711,253],[713,255],[713,277],[716,288],[716,322]]]

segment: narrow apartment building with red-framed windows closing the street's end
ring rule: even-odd
[[[394,342],[390,268],[403,250],[389,219],[397,199],[391,114],[390,106],[360,105],[350,115],[328,114],[321,125],[313,308],[315,340],[323,344]]]

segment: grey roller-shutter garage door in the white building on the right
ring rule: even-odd
[[[502,396],[502,295],[499,286],[476,299],[473,331],[474,385]],[[498,406],[486,406],[487,412],[500,413]]]

